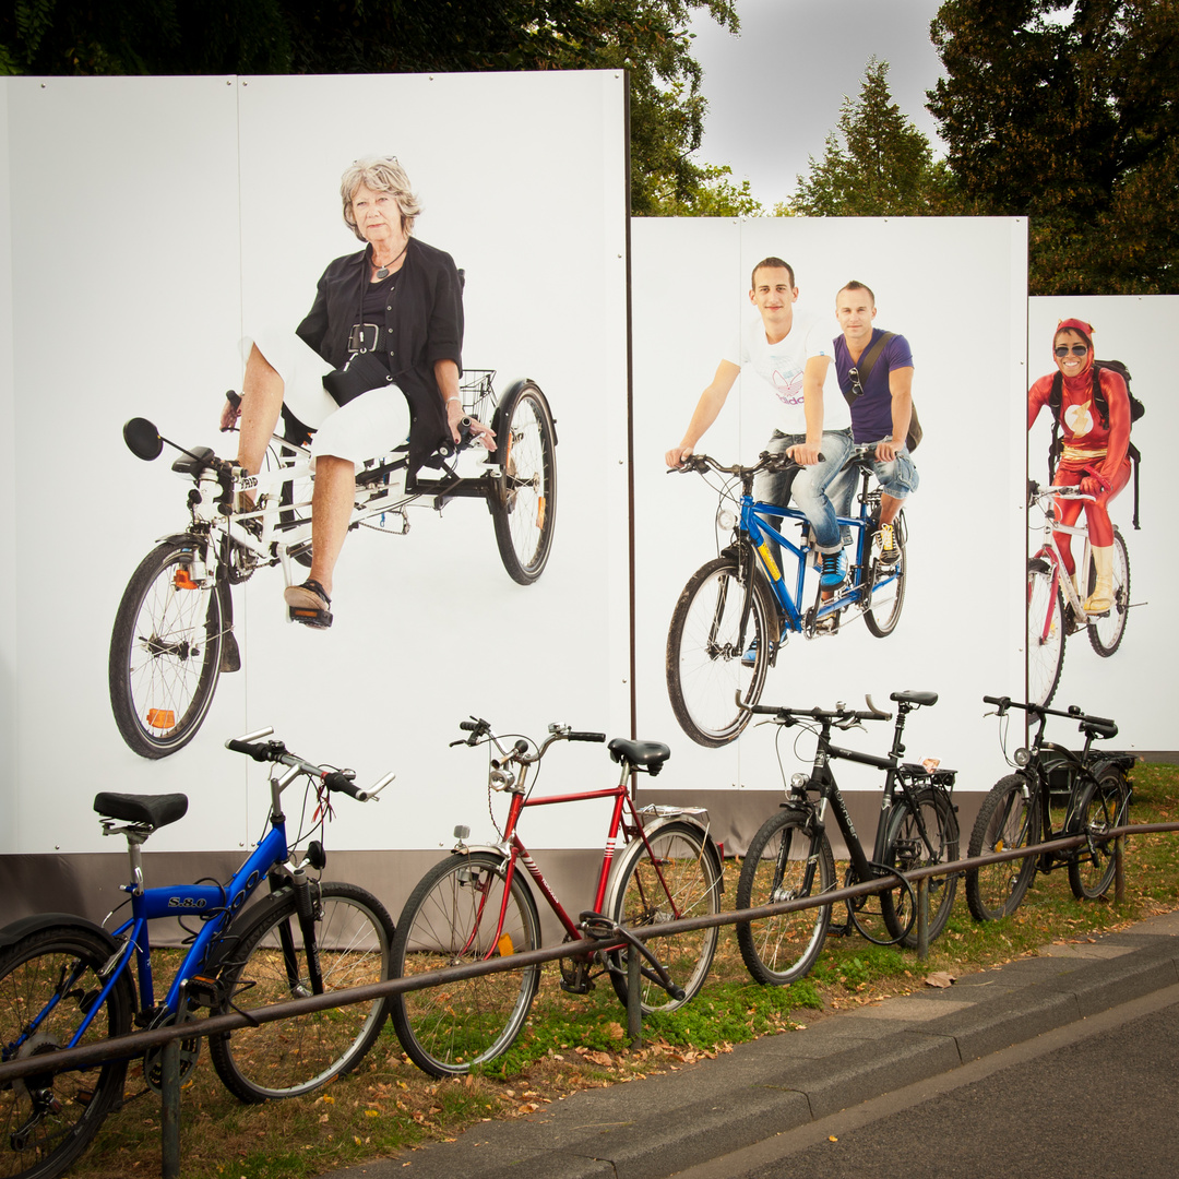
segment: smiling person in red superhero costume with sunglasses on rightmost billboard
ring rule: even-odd
[[[1093,500],[1058,500],[1056,519],[1073,525],[1085,507],[1089,546],[1096,569],[1093,593],[1084,602],[1086,614],[1104,614],[1113,606],[1113,525],[1109,501],[1129,480],[1129,394],[1126,382],[1109,369],[1099,369],[1101,391],[1108,406],[1108,421],[1093,396],[1093,328],[1084,320],[1061,320],[1052,341],[1056,368],[1063,378],[1060,404],[1062,450],[1054,481],[1058,486],[1080,487]],[[1040,377],[1028,390],[1028,429],[1048,404],[1054,373]],[[1076,568],[1067,533],[1058,532],[1056,545],[1065,567],[1076,585]],[[1080,586],[1078,586],[1078,594]]]

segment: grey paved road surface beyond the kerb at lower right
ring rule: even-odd
[[[1179,987],[689,1167],[677,1179],[1086,1173],[1179,1174]]]

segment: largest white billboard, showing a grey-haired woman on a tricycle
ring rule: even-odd
[[[0,88],[2,264],[6,289],[20,292],[0,310],[11,358],[0,374],[0,513],[9,525],[0,552],[9,569],[26,571],[7,582],[0,632],[9,670],[0,678],[0,764],[12,784],[0,799],[9,872],[0,883],[21,870],[45,878],[45,855],[113,854],[91,811],[100,790],[186,792],[183,830],[158,832],[152,851],[239,859],[264,823],[266,782],[223,745],[272,725],[292,744],[314,735],[310,744],[358,780],[396,771],[384,805],[363,816],[342,809],[331,841],[363,861],[337,867],[343,878],[396,909],[403,897],[391,876],[403,871],[411,884],[421,868],[390,850],[436,855],[456,822],[475,838],[495,837],[477,776],[472,789],[447,759],[459,720],[508,692],[505,723],[630,727],[628,571],[617,556],[627,528],[618,477],[627,432],[625,75],[6,78]],[[62,169],[68,184],[46,182]],[[554,297],[554,284],[568,297]],[[46,312],[62,302],[64,316]],[[291,368],[299,340],[310,368],[298,358]],[[377,388],[397,384],[416,399],[413,413],[399,393],[343,430],[373,386],[355,399],[345,389],[343,408],[320,390],[324,369],[340,373],[350,355],[375,360]],[[498,403],[486,415],[467,409],[463,386],[476,373],[493,375]],[[225,390],[241,394],[243,376],[239,449],[219,426],[223,414],[225,424],[237,416]],[[225,561],[217,546],[197,560],[184,547],[193,513],[220,515],[220,493],[169,467],[199,462],[191,455],[208,447],[253,468],[258,436],[277,417],[275,377],[282,400],[305,377],[337,410],[312,450],[316,500],[307,485],[298,501],[307,514],[325,508],[328,528],[315,522],[310,553],[270,538],[252,564],[244,541],[228,542]],[[512,454],[499,454],[488,433],[521,387],[544,390],[556,419],[559,513],[552,494],[542,503],[533,494],[528,424],[505,432]],[[320,426],[311,416],[305,424]],[[490,472],[502,492],[494,505],[444,486],[403,516],[394,501],[340,528],[337,480],[327,472],[335,460],[361,469],[378,457],[370,450],[407,435],[415,452],[453,447],[452,427],[469,416],[476,421],[463,428],[492,449],[465,448],[454,477]],[[121,437],[133,417],[190,456],[165,444],[159,461],[140,462]],[[329,430],[334,420],[340,432]],[[430,436],[419,447],[423,427]],[[403,468],[390,485],[399,476]],[[419,470],[420,480],[444,477],[427,462]],[[338,482],[350,511],[350,473]],[[256,489],[242,489],[223,520],[249,518]],[[205,492],[210,502],[193,500]],[[544,574],[527,585],[503,555],[516,508],[525,527],[547,525],[553,538]],[[120,631],[141,657],[141,679],[156,677],[159,690],[139,723],[170,731],[216,680],[199,731],[164,757],[132,751],[112,707],[119,604],[151,554],[154,617],[166,618],[171,602],[191,625],[183,637],[134,619]],[[301,564],[317,556],[334,567]],[[288,586],[308,580],[318,590],[284,600]],[[291,608],[312,620],[330,613],[331,626],[292,624]],[[617,633],[613,619],[623,621]],[[51,631],[51,644],[37,640]],[[562,654],[571,643],[575,659]],[[71,870],[51,875],[68,887]],[[32,900],[34,890],[8,894]],[[54,898],[42,894],[41,903],[53,908]],[[62,897],[55,907],[77,904]]]

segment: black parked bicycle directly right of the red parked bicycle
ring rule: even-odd
[[[957,806],[954,804],[955,771],[901,762],[905,717],[924,705],[937,703],[936,692],[894,692],[896,727],[888,756],[877,757],[831,744],[831,729],[862,727],[863,720],[890,720],[890,712],[849,711],[837,704],[835,711],[822,709],[775,709],[756,706],[751,711],[771,717],[782,731],[801,726],[818,736],[815,764],[809,775],[796,773],[782,809],[768,818],[753,836],[737,884],[737,908],[751,909],[831,891],[835,887],[835,856],[826,836],[828,803],[848,845],[850,864],[847,884],[894,877],[887,891],[856,897],[848,902],[848,921],[831,933],[857,930],[878,946],[917,944],[914,924],[917,902],[913,887],[902,875],[930,864],[957,859]],[[884,770],[884,798],[872,858],[869,859],[852,825],[851,816],[830,763],[842,758]],[[811,798],[815,793],[818,797]],[[933,941],[946,928],[957,877],[929,880],[928,936]],[[737,926],[737,942],[749,973],[762,983],[784,986],[802,979],[815,964],[831,920],[831,905],[799,909],[777,917]]]

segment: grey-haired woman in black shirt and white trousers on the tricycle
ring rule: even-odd
[[[409,436],[409,473],[459,442],[463,419],[462,286],[450,255],[413,236],[421,211],[395,157],[356,160],[340,184],[344,223],[365,243],[336,258],[295,336],[246,341],[241,406],[226,401],[222,429],[241,417],[238,463],[257,473],[284,399],[301,387],[331,411],[311,444],[311,569],[285,591],[290,617],[331,625],[332,571],[351,519],[357,463]],[[296,399],[297,400],[297,399]],[[299,411],[295,410],[296,416]],[[470,422],[488,448],[494,435]]]

